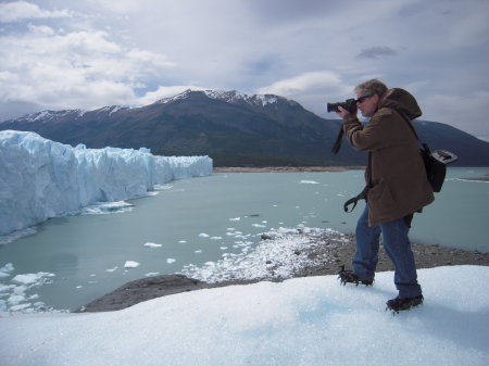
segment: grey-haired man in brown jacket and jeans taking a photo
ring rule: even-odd
[[[356,106],[364,117],[369,117],[368,123],[365,126],[360,123],[356,109],[350,112],[339,106],[338,115],[343,118],[343,131],[352,148],[368,152],[365,171],[368,190],[355,230],[353,270],[343,268],[339,278],[342,285],[373,285],[381,234],[396,267],[394,283],[399,291],[387,307],[398,313],[423,303],[408,238],[413,214],[435,200],[417,138],[410,127],[411,119],[422,112],[411,93],[388,89],[377,79],[359,85],[354,92]]]

